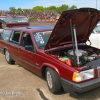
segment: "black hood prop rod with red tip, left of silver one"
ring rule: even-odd
[[[69,17],[70,17],[70,16],[69,16]],[[74,35],[73,35],[72,20],[69,18],[69,21],[70,21],[70,28],[71,28],[71,35],[72,35],[73,54],[74,54],[74,64],[75,64],[75,68],[77,68],[77,64],[76,64],[76,55],[75,55],[75,45],[74,45]]]

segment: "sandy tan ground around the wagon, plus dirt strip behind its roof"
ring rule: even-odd
[[[54,25],[54,22],[33,22],[31,25]],[[62,91],[54,95],[48,90],[46,81],[22,66],[7,64],[0,53],[0,100],[100,100],[100,88],[71,95]]]

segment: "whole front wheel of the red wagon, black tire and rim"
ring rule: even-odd
[[[46,69],[46,81],[51,93],[57,94],[61,92],[62,86],[61,86],[60,78],[56,73],[56,71],[54,71],[49,67],[47,67]]]

